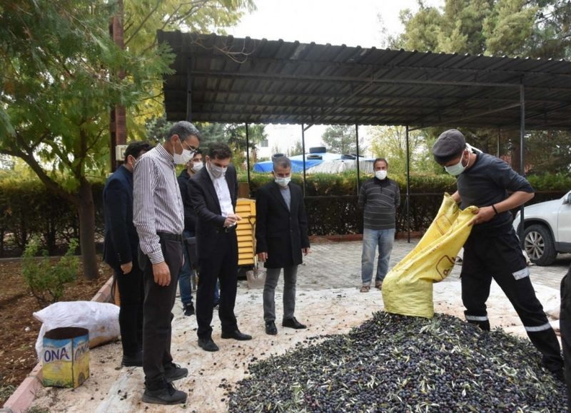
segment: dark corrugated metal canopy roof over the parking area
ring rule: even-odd
[[[571,129],[571,62],[158,31],[168,120]],[[522,87],[523,85],[523,87]],[[525,93],[524,93],[525,92]]]

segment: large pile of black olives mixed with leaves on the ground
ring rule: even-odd
[[[529,341],[450,315],[384,312],[345,335],[253,362],[231,412],[565,412]]]

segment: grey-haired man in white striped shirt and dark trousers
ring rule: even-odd
[[[177,122],[163,145],[141,156],[133,171],[133,221],[143,270],[143,402],[178,404],[186,393],[171,382],[188,375],[171,357],[171,313],[177,276],[183,265],[184,209],[175,164],[192,159],[200,134],[190,122]]]

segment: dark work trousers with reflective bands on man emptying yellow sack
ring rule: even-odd
[[[520,316],[527,336],[542,354],[547,370],[562,368],[559,342],[533,290],[529,270],[515,231],[495,236],[470,235],[464,246],[462,300],[466,320],[490,330],[486,300],[492,278]]]

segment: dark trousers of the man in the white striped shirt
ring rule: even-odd
[[[155,283],[153,265],[147,256],[141,258],[144,265],[143,278],[145,301],[143,305],[143,371],[145,385],[149,390],[165,387],[165,368],[172,366],[171,356],[171,321],[173,320],[174,300],[178,272],[183,263],[181,241],[163,239],[161,249],[168,270],[171,271],[171,283],[161,287]]]

